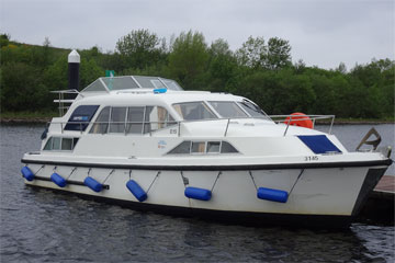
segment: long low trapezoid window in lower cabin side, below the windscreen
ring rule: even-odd
[[[227,141],[191,141],[184,140],[176,146],[168,155],[191,153],[238,153],[234,146]]]

